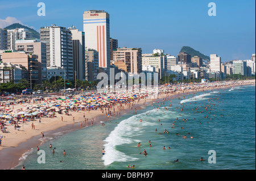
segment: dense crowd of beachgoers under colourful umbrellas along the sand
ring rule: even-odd
[[[255,82],[251,84],[255,84]],[[33,124],[34,121],[39,121],[40,124],[44,117],[52,119],[61,117],[61,120],[63,121],[63,115],[72,116],[72,112],[84,112],[84,121],[85,123],[88,123],[85,113],[90,113],[96,110],[101,111],[102,114],[106,116],[106,119],[109,119],[111,116],[121,116],[121,110],[124,110],[125,107],[129,108],[129,110],[133,109],[133,106],[138,104],[141,99],[145,99],[145,102],[143,102],[143,104],[145,104],[146,99],[154,102],[156,99],[167,97],[168,95],[188,94],[189,92],[221,89],[224,87],[240,85],[245,85],[245,83],[242,81],[226,81],[175,85],[166,84],[159,86],[157,90],[145,89],[139,90],[138,92],[96,91],[86,92],[80,95],[2,102],[0,104],[0,131],[4,136],[0,137],[0,146],[2,144],[2,139],[8,136],[6,133],[8,133],[9,127],[13,126],[15,130],[20,131],[20,124]],[[168,99],[171,99],[171,97]],[[22,105],[23,108],[14,109],[16,104]],[[136,113],[137,110],[135,109],[134,114]],[[75,121],[75,117],[73,117],[73,120]],[[93,119],[91,120],[91,124],[93,124]],[[32,129],[35,129],[35,124],[33,124]],[[163,133],[168,134],[167,129],[164,130]],[[187,138],[187,136],[183,136],[183,138]],[[144,155],[147,155],[146,150],[143,152]]]

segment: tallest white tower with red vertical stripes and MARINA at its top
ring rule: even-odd
[[[98,52],[98,65],[110,68],[110,28],[109,14],[103,10],[84,12],[85,47]]]

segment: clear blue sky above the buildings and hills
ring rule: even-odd
[[[46,16],[37,15],[39,2],[45,3]],[[208,15],[209,2],[216,3],[216,16]],[[255,0],[2,1],[0,27],[16,20],[37,31],[53,23],[83,31],[82,15],[88,10],[109,12],[110,37],[118,39],[118,47],[138,47],[143,53],[159,48],[177,56],[189,46],[218,54],[222,61],[250,59],[255,53]]]

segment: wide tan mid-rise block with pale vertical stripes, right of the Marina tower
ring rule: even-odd
[[[118,48],[113,51],[114,65],[127,73],[139,74],[142,72],[141,48]]]

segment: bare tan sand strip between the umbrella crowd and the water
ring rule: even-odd
[[[239,81],[240,83],[242,81]],[[255,84],[254,80],[248,80],[243,81],[244,85],[247,84]],[[240,85],[240,84],[239,84]],[[234,87],[238,85],[232,85],[232,86],[218,86],[218,87],[205,87],[204,89],[198,89],[198,90],[186,90],[186,91],[178,91],[176,94],[159,94],[157,98],[154,99],[141,99],[135,100],[135,106],[132,106],[129,109],[129,106],[125,106],[123,110],[121,110],[121,116],[126,113],[134,113],[135,108],[137,110],[142,109],[143,107],[149,105],[152,102],[156,101],[162,101],[165,98],[174,99],[181,95],[187,95],[187,94],[195,94],[196,92],[201,91],[207,91],[207,90],[216,90],[216,89],[228,89],[230,87]],[[26,103],[26,104],[16,104],[14,105],[14,109],[17,108],[24,108],[27,105],[32,106],[33,104]],[[117,110],[117,108],[115,107]],[[0,146],[0,169],[11,169],[18,165],[19,158],[22,157],[22,154],[26,153],[31,148],[36,148],[36,146],[39,146],[42,144],[42,141],[39,141],[40,138],[42,138],[42,132],[44,133],[44,136],[48,136],[49,134],[60,132],[60,131],[73,131],[76,129],[81,129],[86,127],[84,123],[84,113],[85,118],[88,119],[88,126],[91,126],[90,121],[93,119],[93,125],[101,124],[101,121],[110,121],[113,119],[119,118],[119,110],[118,115],[106,117],[105,113],[102,113],[100,110],[92,110],[90,112],[88,111],[69,111],[69,113],[72,114],[72,116],[67,116],[64,114],[57,113],[55,118],[48,118],[48,117],[42,117],[41,121],[42,123],[39,123],[39,119],[36,119],[35,121],[26,122],[24,124],[19,124],[20,130],[17,131],[14,129],[14,125],[7,126],[7,133],[2,133],[3,139],[2,139],[2,146]],[[61,116],[63,116],[63,121],[61,121]],[[75,123],[73,123],[73,117],[75,117]],[[82,127],[80,123],[82,122]],[[31,124],[35,125],[35,129],[31,128]]]

